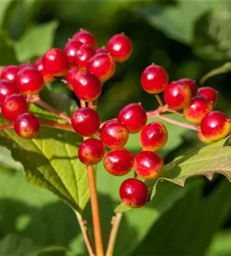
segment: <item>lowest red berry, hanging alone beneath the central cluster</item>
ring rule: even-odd
[[[120,185],[120,198],[127,207],[142,207],[149,200],[148,188],[143,181],[129,178]]]

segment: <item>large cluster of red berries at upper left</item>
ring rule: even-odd
[[[44,83],[65,77],[67,87],[86,102],[96,100],[102,83],[109,79],[116,62],[125,61],[132,44],[124,33],[112,36],[106,47],[97,48],[96,39],[81,29],[68,40],[64,50],[49,49],[32,65],[7,66],[0,80],[0,106],[6,120],[14,123],[15,132],[22,138],[35,138],[39,131],[38,118],[29,113],[31,95],[37,95]]]

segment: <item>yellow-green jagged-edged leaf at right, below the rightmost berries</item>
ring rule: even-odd
[[[230,180],[230,139],[231,137],[222,139],[167,164],[164,172],[157,179],[146,181],[151,191],[151,199],[154,197],[157,184],[161,180],[171,181],[183,186],[188,177],[204,175],[211,180],[214,173],[223,174]],[[128,209],[121,204],[116,208],[116,211],[123,212]]]

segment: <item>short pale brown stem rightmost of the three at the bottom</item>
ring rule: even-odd
[[[117,212],[116,216],[112,217],[111,220],[111,231],[109,234],[109,239],[108,239],[108,244],[107,244],[107,251],[106,255],[111,256],[113,254],[114,246],[116,244],[116,239],[117,239],[117,232],[120,226],[120,222],[122,219],[122,214],[121,212]]]

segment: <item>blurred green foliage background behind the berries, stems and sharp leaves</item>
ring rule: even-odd
[[[98,46],[125,32],[133,54],[118,65],[99,99],[102,120],[116,117],[129,102],[153,110],[157,103],[140,86],[142,71],[154,62],[170,80],[202,75],[231,60],[229,1],[1,1],[0,65],[34,61],[52,46],[63,48],[77,30],[95,35]],[[217,109],[230,115],[230,73],[205,82],[219,90]],[[56,80],[52,90],[75,96]],[[75,99],[77,100],[77,99]],[[160,154],[165,162],[203,145],[196,135],[168,125],[170,142]],[[135,138],[129,141],[134,151]],[[0,255],[87,255],[75,215],[48,191],[26,182],[22,167],[5,148],[0,154]],[[98,167],[103,235],[106,241],[113,208],[120,202],[122,179]],[[231,255],[231,184],[192,178],[181,188],[159,188],[153,202],[128,211],[122,221],[116,255]],[[89,204],[85,212],[91,225]],[[89,228],[92,234],[91,228]]]

